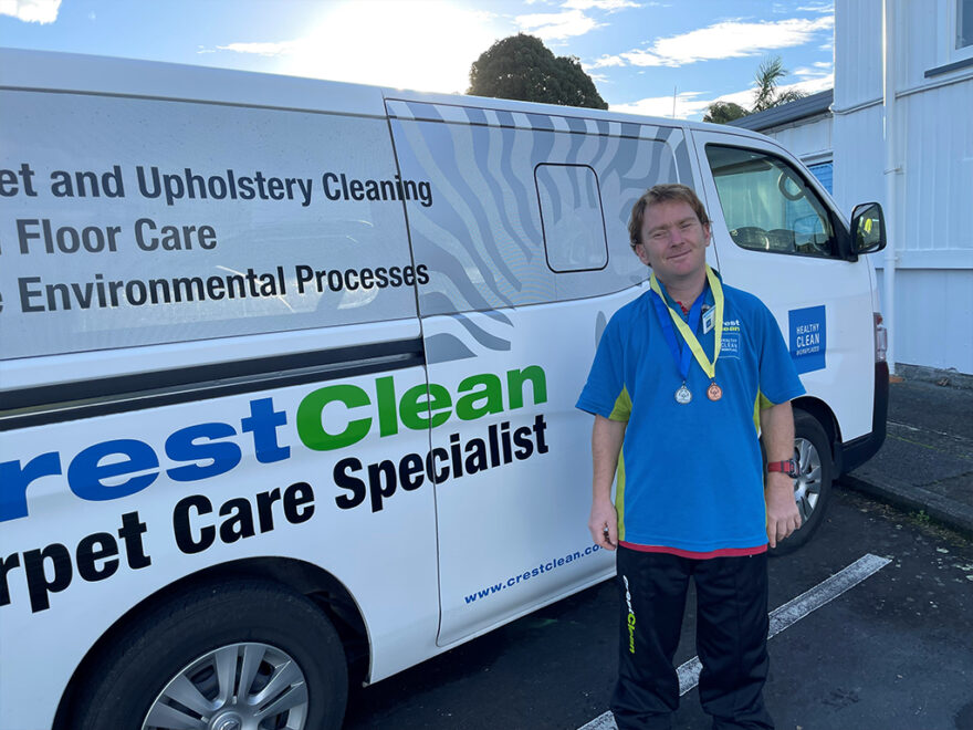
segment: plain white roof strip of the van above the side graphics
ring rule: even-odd
[[[475,106],[505,112],[541,113],[657,126],[719,129],[762,137],[747,129],[666,117],[517,102],[506,98],[439,94],[368,86],[339,81],[195,66],[159,61],[117,59],[50,51],[0,48],[0,88],[45,90],[165,98],[294,109],[312,113],[385,117],[387,100],[450,106]]]

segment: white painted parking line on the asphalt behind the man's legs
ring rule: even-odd
[[[796,598],[792,598],[783,606],[774,608],[770,614],[771,628],[767,632],[767,638],[773,638],[785,628],[793,626],[810,612],[834,601],[848,588],[854,588],[865,578],[875,575],[891,562],[888,557],[879,557],[868,553],[826,581],[822,581],[809,591],[802,593]],[[686,692],[697,686],[701,668],[702,665],[699,657],[693,657],[677,669],[680,695],[686,695]],[[605,712],[587,724],[582,726],[578,730],[617,730],[617,726],[611,712]]]

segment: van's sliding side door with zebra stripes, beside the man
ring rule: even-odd
[[[639,292],[631,205],[688,164],[679,129],[388,101],[419,285],[446,645],[609,575],[593,549],[592,417],[608,316]],[[678,153],[677,153],[678,149]]]

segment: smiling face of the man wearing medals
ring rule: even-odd
[[[662,283],[692,279],[707,263],[710,227],[682,200],[665,200],[646,208],[639,260],[652,267]]]

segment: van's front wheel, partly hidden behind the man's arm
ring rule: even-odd
[[[794,460],[797,478],[794,480],[794,500],[801,513],[801,529],[777,543],[771,552],[787,555],[806,545],[824,520],[831,498],[831,449],[828,436],[817,419],[794,410]]]

